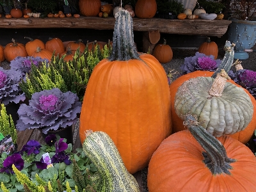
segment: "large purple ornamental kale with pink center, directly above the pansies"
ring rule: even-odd
[[[61,92],[59,88],[33,93],[29,105],[21,104],[18,110],[17,130],[42,128],[47,134],[77,121],[81,102],[75,93]]]

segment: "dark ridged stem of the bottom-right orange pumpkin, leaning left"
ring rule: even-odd
[[[232,169],[230,163],[236,162],[236,159],[231,159],[227,156],[227,151],[220,141],[206,131],[200,125],[200,122],[197,122],[196,116],[186,115],[183,124],[188,127],[195,140],[204,148],[205,152],[202,153],[204,156],[203,161],[212,174],[226,173],[231,175],[229,172]]]

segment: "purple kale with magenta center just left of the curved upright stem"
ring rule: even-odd
[[[184,64],[180,66],[183,74],[188,74],[196,70],[215,71],[221,60],[214,60],[214,56],[207,56],[204,53],[196,52],[195,56],[186,57]]]

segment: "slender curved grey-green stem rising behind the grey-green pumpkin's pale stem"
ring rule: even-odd
[[[231,44],[230,41],[226,41],[224,49],[225,49],[225,55],[223,60],[221,61],[219,67],[216,69],[214,74],[212,74],[212,78],[215,78],[218,73],[221,72],[221,69],[224,69],[225,72],[229,72],[230,68],[232,67],[232,63],[234,60],[234,47],[236,44]]]

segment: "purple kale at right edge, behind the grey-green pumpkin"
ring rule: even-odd
[[[256,99],[256,72],[246,69],[237,70],[236,72],[230,70],[228,76],[237,84],[240,84],[243,88],[248,90]]]

